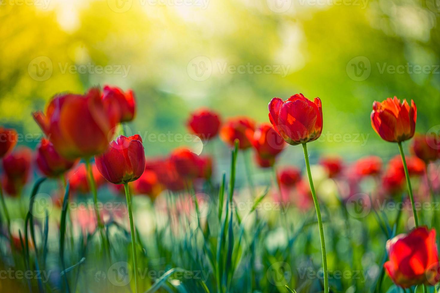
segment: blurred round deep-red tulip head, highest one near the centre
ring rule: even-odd
[[[207,141],[217,136],[220,129],[220,118],[216,112],[209,109],[199,109],[191,114],[187,125],[191,133]]]

